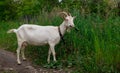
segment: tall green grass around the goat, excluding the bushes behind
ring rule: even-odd
[[[118,73],[120,71],[120,17],[102,18],[88,14],[82,16],[78,12],[75,25],[79,31],[71,30],[56,45],[57,63],[47,64],[49,46],[29,46],[26,55],[33,63],[46,68],[72,68],[73,73]],[[43,18],[46,17],[46,18]],[[35,22],[39,25],[59,25],[62,19],[58,16],[49,18],[49,14],[41,13]],[[7,34],[11,28],[18,28],[20,21],[0,22],[0,47],[15,52],[17,40],[15,34]],[[31,55],[32,54],[32,55]],[[52,58],[51,58],[52,61]]]

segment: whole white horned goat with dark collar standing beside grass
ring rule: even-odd
[[[64,21],[60,26],[38,26],[38,25],[30,25],[23,24],[18,29],[11,29],[8,33],[16,33],[18,48],[17,52],[17,63],[21,64],[20,61],[20,50],[22,53],[23,60],[26,60],[24,55],[24,48],[27,44],[30,45],[44,45],[48,44],[50,46],[48,51],[48,63],[50,62],[50,55],[52,53],[54,61],[56,61],[55,56],[55,45],[59,43],[60,38],[64,35],[65,31],[71,27],[74,27],[73,19],[74,17],[71,14],[66,12],[61,12],[63,14]],[[21,49],[22,48],[22,49]]]

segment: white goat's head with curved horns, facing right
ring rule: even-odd
[[[63,18],[67,28],[75,27],[74,21],[73,21],[75,17],[72,17],[70,13],[66,13],[66,12],[60,12],[60,14],[63,14]]]

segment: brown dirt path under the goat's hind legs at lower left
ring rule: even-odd
[[[15,54],[0,49],[0,73],[70,73],[55,69],[35,68],[29,61],[17,65]]]

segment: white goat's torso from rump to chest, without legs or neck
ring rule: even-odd
[[[60,40],[58,28],[55,26],[39,26],[24,24],[17,29],[17,38],[32,45],[43,45]],[[57,40],[57,41],[56,41]]]

